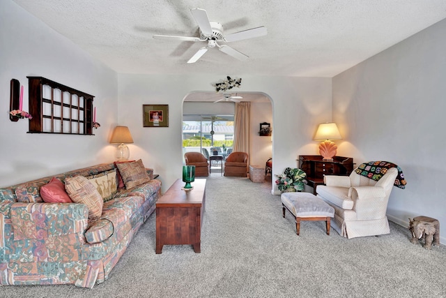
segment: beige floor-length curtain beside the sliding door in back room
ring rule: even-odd
[[[236,114],[234,117],[234,143],[233,152],[249,152],[249,135],[251,131],[251,103],[242,101],[236,103]]]

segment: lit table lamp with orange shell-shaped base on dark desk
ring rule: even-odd
[[[337,153],[337,146],[331,140],[342,140],[341,134],[334,122],[319,124],[318,131],[313,140],[323,140],[319,144],[319,154],[323,161],[333,161],[333,156]]]

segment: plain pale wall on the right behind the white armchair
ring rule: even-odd
[[[397,163],[406,189],[394,187],[391,221],[430,216],[446,226],[446,20],[333,78],[333,119],[344,156]],[[446,229],[440,230],[446,244]]]

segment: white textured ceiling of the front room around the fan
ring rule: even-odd
[[[445,0],[13,0],[117,73],[332,77],[446,17]],[[224,33],[265,26],[266,36],[227,43],[186,64],[203,42],[191,8]]]

